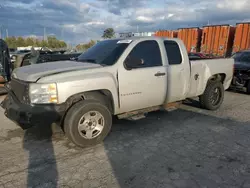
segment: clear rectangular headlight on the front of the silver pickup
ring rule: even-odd
[[[57,86],[51,84],[30,84],[29,97],[32,104],[57,103]]]

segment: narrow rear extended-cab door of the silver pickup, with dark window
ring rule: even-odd
[[[184,53],[185,49],[181,53],[180,46],[175,41],[166,40],[164,45],[169,63],[167,102],[183,100],[186,98],[190,83],[188,55]]]

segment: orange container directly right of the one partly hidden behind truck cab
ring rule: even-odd
[[[178,38],[181,39],[188,52],[199,52],[201,43],[201,29],[195,28],[181,28],[178,29]]]

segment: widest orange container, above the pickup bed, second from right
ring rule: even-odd
[[[201,52],[214,56],[231,55],[235,27],[230,25],[204,26],[202,31]]]

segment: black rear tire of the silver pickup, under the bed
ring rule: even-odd
[[[212,95],[217,89],[218,96],[215,102],[213,102]],[[217,110],[224,100],[224,86],[219,81],[209,81],[203,95],[200,96],[200,104],[202,108],[207,110]]]

